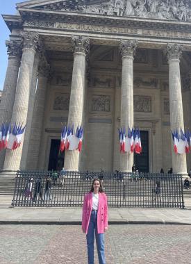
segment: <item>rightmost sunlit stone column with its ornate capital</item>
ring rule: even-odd
[[[183,45],[181,44],[167,44],[167,59],[169,64],[169,110],[172,131],[174,129],[183,129],[184,131],[180,74],[182,51]],[[174,151],[172,151],[172,168],[174,173],[187,174],[186,155],[175,154]]]

